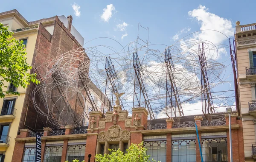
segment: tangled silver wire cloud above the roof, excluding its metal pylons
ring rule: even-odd
[[[209,32],[220,34],[218,31],[209,30]],[[183,112],[185,115],[198,114],[201,112],[201,107],[198,107],[198,105],[201,106],[201,66],[198,58],[199,43],[203,43],[207,57],[207,74],[209,85],[212,89],[215,111],[221,111],[221,108],[225,106],[233,106],[234,91],[233,86],[231,86],[233,85],[233,72],[232,66],[230,65],[230,57],[227,54],[225,55],[226,49],[229,51],[229,45],[214,45],[208,40],[193,39],[189,36],[191,35],[183,37],[170,46],[151,44],[148,40],[140,39],[138,34],[137,39],[125,47],[119,42],[106,37],[93,39],[84,45],[87,46],[89,43],[104,39],[118,46],[121,50],[117,50],[117,47],[114,48],[111,45],[84,47],[84,49],[79,48],[66,53],[61,53],[61,49],[57,49],[59,56],[47,62],[45,75],[39,74],[41,76],[41,84],[37,85],[32,93],[34,106],[38,113],[46,116],[49,122],[56,126],[64,126],[64,124],[68,123],[67,121],[74,120],[74,118],[76,118],[74,125],[81,123],[84,118],[88,120],[87,113],[91,109],[87,107],[88,101],[82,89],[93,83],[104,94],[106,93],[109,99],[112,98],[113,89],[109,82],[107,83],[105,92],[107,78],[105,60],[106,57],[110,57],[118,77],[115,80],[116,87],[119,92],[125,92],[125,95],[121,98],[123,107],[128,112],[131,112],[133,103],[135,103],[134,105],[137,103],[133,99],[134,84],[135,91],[137,92],[139,89],[138,83],[134,83],[133,67],[133,53],[137,52],[143,72],[143,83],[153,112],[157,117],[165,117],[165,113],[163,112],[165,112],[166,106],[168,108],[169,105],[165,103],[166,66],[164,54],[165,49],[169,48],[175,69],[173,74],[180,95],[180,101],[183,105]],[[226,57],[224,57],[224,60],[219,61],[221,55]],[[90,68],[88,70],[87,67],[89,66]],[[90,78],[81,77],[84,73],[89,73]],[[81,82],[83,82],[82,86],[80,84]],[[53,93],[53,89],[58,86],[61,87],[61,92]],[[35,94],[37,92],[40,92],[44,98],[44,109],[36,102]],[[52,96],[53,94],[58,95]],[[72,103],[76,96],[79,96],[80,100],[82,98],[82,101],[80,101],[81,113],[72,115],[72,109],[75,109],[75,106],[70,103]],[[51,104],[50,98],[55,98],[55,101],[65,101],[65,106],[58,109],[58,115],[56,114],[56,105]],[[114,100],[111,101],[111,103],[113,102]],[[100,103],[97,106],[102,110]],[[76,111],[78,110],[76,109]]]

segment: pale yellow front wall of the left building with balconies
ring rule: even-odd
[[[17,25],[16,20],[14,19],[9,19],[9,20],[0,20],[1,23],[8,24],[10,25],[11,30],[15,30],[17,28],[22,28],[22,26]],[[14,28],[16,26],[16,28]],[[10,30],[9,28],[9,30]],[[17,40],[27,38],[27,45],[26,45],[26,57],[27,57],[27,63],[29,65],[32,64],[32,58],[34,54],[34,49],[35,49],[35,43],[37,39],[37,34],[38,30],[37,28],[31,28],[27,29],[24,31],[17,31],[14,33],[13,37]],[[5,85],[9,86],[9,83],[5,82]],[[3,90],[7,90],[7,88],[3,88]],[[26,93],[26,88],[19,87],[17,88],[17,91],[20,92],[20,95],[5,95],[5,98],[0,99],[0,105],[3,105],[3,101],[6,99],[12,99],[16,98],[15,101],[15,106],[14,108],[17,109],[15,113],[15,118],[14,119],[3,119],[0,117],[0,124],[9,124],[9,146],[0,146],[0,153],[5,154],[5,159],[4,162],[11,162],[12,161],[12,154],[14,151],[14,146],[15,146],[15,138],[17,136],[17,131],[19,127],[19,122],[20,122],[20,116],[21,116],[21,111],[23,107],[23,102],[25,98],[25,93]],[[4,116],[3,116],[4,117]]]

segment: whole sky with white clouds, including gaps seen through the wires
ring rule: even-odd
[[[244,4],[246,4],[246,7],[242,7]],[[123,46],[137,39],[138,23],[140,23],[143,27],[149,28],[149,41],[151,44],[172,45],[183,36],[200,29],[213,29],[224,33],[228,37],[233,37],[236,21],[240,21],[241,25],[255,22],[253,14],[255,5],[256,1],[253,0],[244,0],[242,2],[228,0],[44,0],[43,3],[35,0],[8,0],[1,2],[0,12],[17,9],[28,21],[55,15],[65,15],[66,17],[72,15],[73,25],[84,37],[84,42],[98,37],[109,37]],[[143,40],[147,39],[147,32],[141,30],[140,37]],[[227,39],[223,35],[213,33],[201,32],[190,35],[190,37],[206,39],[215,45],[227,43]],[[110,45],[117,50],[122,50],[119,45],[107,39],[96,39],[96,41],[88,43],[85,47],[94,45]],[[157,47],[161,52],[163,52],[164,48]],[[103,52],[105,52],[104,49]],[[218,56],[215,56],[214,53],[210,53],[210,55],[212,55],[212,60],[227,66],[226,72],[222,74],[222,77],[231,73],[232,69],[228,66],[230,64],[229,55],[225,54],[225,51],[219,49]],[[118,60],[115,61],[117,62]],[[116,68],[119,68],[120,71],[123,70],[121,66],[116,66]],[[211,77],[214,77],[214,75]],[[226,78],[229,83],[219,85],[212,90],[215,92],[221,91],[230,86],[233,89],[233,76]],[[230,86],[227,86],[229,84]],[[125,91],[127,89],[122,90]],[[125,92],[129,94],[128,91]],[[221,94],[220,97],[229,95],[232,96],[232,92]],[[226,104],[231,106],[233,101],[232,99]],[[220,101],[215,100],[214,102],[216,106],[223,106]],[[192,110],[198,108],[198,106],[201,106],[198,101],[189,101],[184,105],[186,109]],[[156,107],[159,108],[157,105]],[[160,115],[159,117],[163,116]]]

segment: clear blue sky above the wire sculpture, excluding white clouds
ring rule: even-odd
[[[198,8],[199,5],[209,8],[209,12],[241,24],[253,23],[253,10],[256,4],[253,0],[244,0],[246,7],[239,5],[241,1],[235,0],[1,0],[0,12],[16,8],[28,21],[55,15],[72,15],[73,25],[87,40],[100,36],[116,36],[121,42],[124,32],[114,31],[117,24],[125,22],[129,24],[126,28],[128,36],[123,39],[122,44],[137,37],[137,25],[150,28],[151,42],[172,43],[172,38],[178,31],[189,27],[191,31],[198,31],[198,22],[191,19],[188,11]],[[76,17],[71,5],[76,3],[80,6],[81,15]],[[101,19],[103,8],[113,4],[116,13],[108,22]],[[250,4],[250,5],[249,5]]]

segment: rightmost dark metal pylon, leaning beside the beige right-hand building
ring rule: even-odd
[[[238,79],[237,79],[237,63],[236,63],[236,49],[235,49],[235,41],[233,38],[233,50],[231,41],[229,39],[230,43],[230,58],[231,58],[231,64],[233,67],[233,76],[234,76],[234,86],[235,86],[235,96],[236,96],[236,111],[238,113],[238,116],[240,116],[240,106],[239,106],[239,92],[238,92]]]

